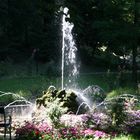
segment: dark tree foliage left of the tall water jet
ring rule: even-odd
[[[0,1],[0,60],[10,57],[14,62],[25,61],[34,48],[39,48],[39,60],[56,61],[59,55],[57,10],[54,0]]]

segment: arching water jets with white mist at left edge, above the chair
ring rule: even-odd
[[[14,119],[31,118],[33,103],[15,93],[3,91],[0,91],[0,93],[2,93],[0,95],[0,105],[4,106],[7,114]]]

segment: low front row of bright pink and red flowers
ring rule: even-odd
[[[46,123],[34,124],[26,122],[16,130],[16,140],[59,140],[80,138],[105,138],[109,135],[103,131],[81,127],[61,127],[52,129]]]

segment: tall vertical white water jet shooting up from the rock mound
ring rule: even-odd
[[[70,23],[67,19],[70,18],[68,14],[68,8],[63,9],[62,17],[62,89],[66,86],[67,88],[75,87],[75,78],[77,77],[78,64],[76,58],[76,44],[72,36],[73,23]],[[64,85],[64,77],[68,77],[68,82]]]

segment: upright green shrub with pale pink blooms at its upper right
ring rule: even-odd
[[[131,94],[123,94],[106,100],[107,112],[112,118],[112,126],[119,132],[124,131],[125,121],[128,119],[128,111],[135,110],[138,97]]]

